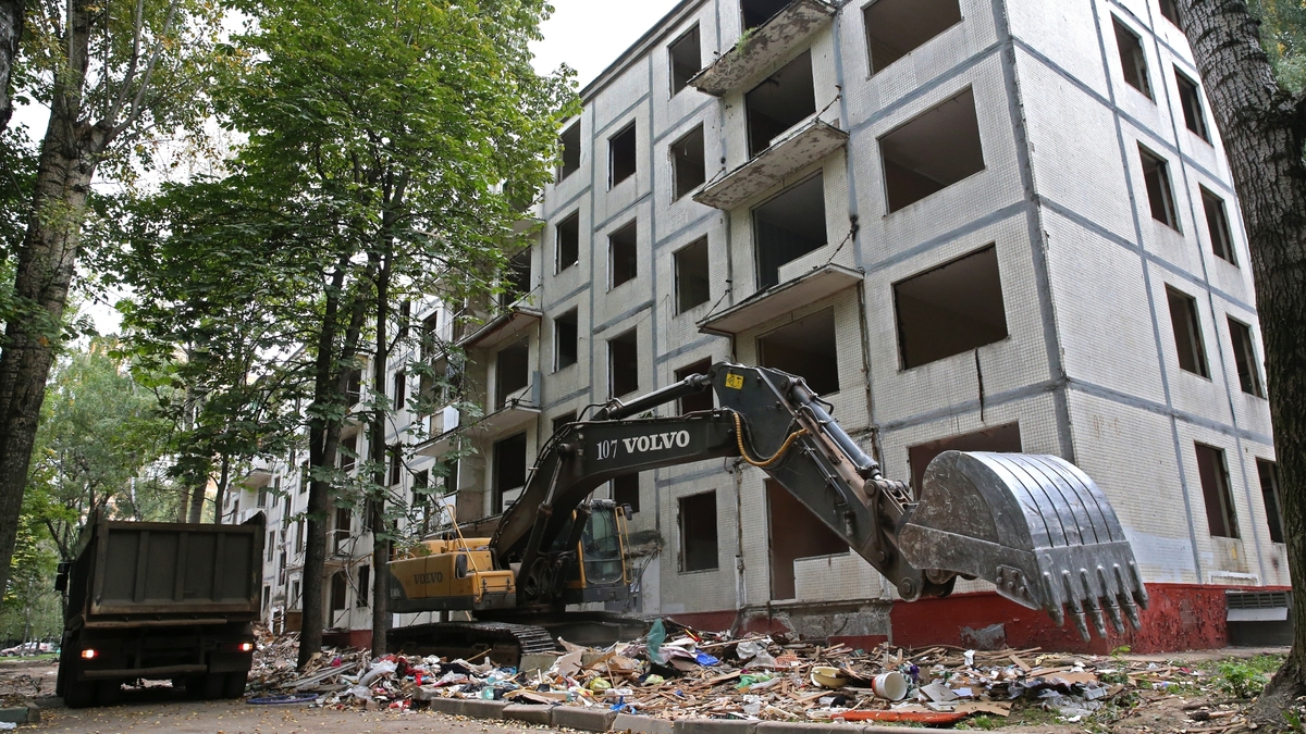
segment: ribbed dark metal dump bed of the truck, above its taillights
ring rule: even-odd
[[[65,627],[255,622],[263,516],[244,525],[98,520],[82,537]]]

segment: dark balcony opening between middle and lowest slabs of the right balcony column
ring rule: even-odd
[[[780,283],[780,266],[825,247],[825,184],[818,174],[752,210],[757,289]]]

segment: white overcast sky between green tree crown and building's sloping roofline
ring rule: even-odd
[[[535,69],[559,64],[579,72],[584,88],[622,51],[644,35],[678,0],[552,0],[554,16],[541,26],[545,40],[534,44]]]

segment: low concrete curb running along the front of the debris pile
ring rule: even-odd
[[[821,724],[788,721],[743,721],[737,718],[682,718],[670,721],[652,716],[614,713],[606,708],[565,705],[518,705],[478,699],[431,699],[431,710],[469,718],[492,718],[575,729],[580,731],[629,731],[631,734],[955,734],[951,729]],[[994,730],[1002,734],[1002,729]]]

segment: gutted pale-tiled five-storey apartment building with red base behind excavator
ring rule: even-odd
[[[458,334],[486,415],[432,417],[417,449],[440,461],[460,434],[478,449],[449,479],[458,520],[511,503],[586,406],[734,360],[806,377],[889,477],[919,481],[953,448],[1081,466],[1165,620],[1107,648],[1224,644],[1233,589],[1280,614],[1247,247],[1174,13],[680,3],[582,91],[511,295]],[[1079,646],[976,582],[895,603],[747,465],[599,492],[635,509],[643,613],[857,645]]]

